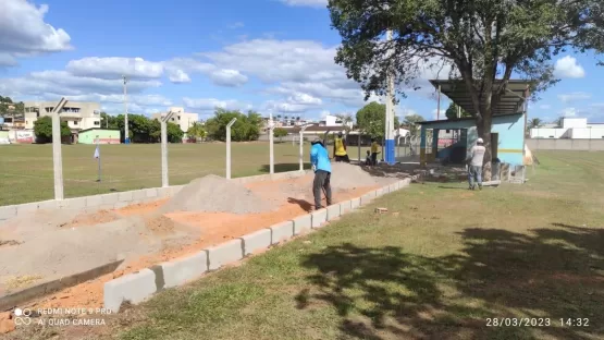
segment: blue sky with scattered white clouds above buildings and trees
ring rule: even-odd
[[[341,38],[325,5],[326,0],[1,0],[0,95],[99,101],[119,114],[125,74],[133,113],[175,106],[204,120],[217,107],[305,119],[354,116],[367,104],[365,93],[334,63]],[[562,81],[530,104],[529,118],[604,122],[604,68],[594,56],[563,53],[554,62]],[[446,75],[426,68],[417,81],[421,89],[406,90],[396,114],[435,119],[428,80]],[[447,106],[444,97],[443,113]]]

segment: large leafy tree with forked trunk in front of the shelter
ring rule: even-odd
[[[451,66],[468,88],[489,170],[493,108],[509,78],[533,81],[534,98],[556,83],[553,56],[604,50],[602,0],[329,0],[329,10],[342,36],[335,61],[367,97],[385,93],[389,74],[405,95],[424,66]]]

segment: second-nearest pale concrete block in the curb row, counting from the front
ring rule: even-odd
[[[182,286],[208,271],[208,255],[205,251],[160,265],[163,271],[163,288]]]

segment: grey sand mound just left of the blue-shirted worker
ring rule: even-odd
[[[254,214],[271,211],[278,206],[263,201],[245,186],[209,174],[193,180],[160,208],[161,214],[206,211]]]

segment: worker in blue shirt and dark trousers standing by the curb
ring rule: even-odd
[[[325,193],[328,206],[331,205],[331,161],[324,142],[316,137],[311,142],[310,163],[315,171],[315,181],[312,182],[312,194],[315,195],[315,209],[321,209],[321,190]]]

